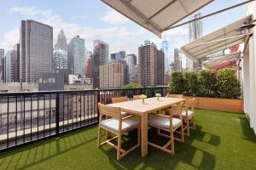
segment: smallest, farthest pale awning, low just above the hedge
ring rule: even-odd
[[[206,69],[211,69],[211,67],[216,65],[222,65],[224,63],[227,63],[229,61],[233,61],[235,59],[241,58],[241,52],[238,52],[236,54],[226,54],[219,57],[212,57],[210,59],[207,59],[206,61],[202,62],[202,67]]]

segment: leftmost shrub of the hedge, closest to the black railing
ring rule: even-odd
[[[169,83],[171,94],[183,94],[184,79],[183,72],[172,72],[171,82]]]

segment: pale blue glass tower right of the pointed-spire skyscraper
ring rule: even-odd
[[[76,76],[85,76],[84,39],[73,37],[68,43],[67,51],[68,73]]]

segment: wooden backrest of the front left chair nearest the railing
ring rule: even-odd
[[[109,105],[103,105],[101,103],[98,103],[99,111],[100,111],[100,116],[102,117],[103,115],[110,116],[110,117],[121,117],[121,110],[119,107],[112,107]]]

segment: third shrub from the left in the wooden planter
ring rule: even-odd
[[[197,77],[197,96],[217,97],[217,72],[200,71]]]

